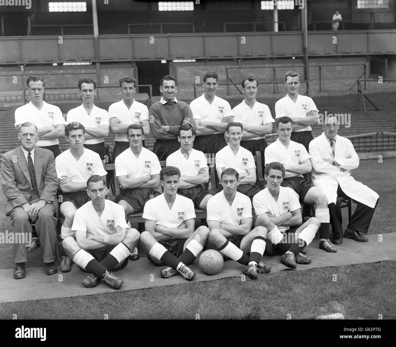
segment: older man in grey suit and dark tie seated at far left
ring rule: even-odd
[[[53,153],[35,147],[38,137],[34,124],[23,123],[18,134],[21,146],[2,156],[1,184],[7,198],[6,216],[11,217],[14,235],[15,279],[26,277],[25,240],[31,239],[30,222],[36,223],[46,274],[58,272],[55,264],[57,218],[54,217],[58,179]]]

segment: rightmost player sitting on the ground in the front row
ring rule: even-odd
[[[296,263],[309,264],[312,261],[301,251],[312,242],[320,222],[312,217],[301,224],[301,205],[292,189],[281,186],[284,176],[285,168],[281,163],[272,162],[265,167],[267,188],[253,197],[255,226],[264,226],[269,230],[267,251],[275,254],[277,249],[284,253],[280,261],[295,269]],[[291,228],[297,225],[300,226]]]

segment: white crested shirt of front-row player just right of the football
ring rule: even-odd
[[[230,225],[240,225],[242,219],[253,217],[249,197],[240,192],[236,192],[231,206],[223,191],[217,193],[208,201],[206,211],[206,220],[217,220]]]

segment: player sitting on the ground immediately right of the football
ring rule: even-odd
[[[246,265],[242,272],[255,280],[257,273],[271,270],[270,266],[260,263],[267,229],[258,226],[251,230],[251,202],[249,197],[236,191],[239,183],[236,170],[225,169],[221,173],[223,190],[208,201],[206,219],[210,234],[206,247],[218,249],[221,254]]]

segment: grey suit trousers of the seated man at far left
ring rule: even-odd
[[[53,204],[46,204],[40,211],[38,211],[38,219],[36,220],[35,228],[40,238],[41,251],[44,263],[51,263],[55,261],[55,246],[57,242],[56,224],[58,220],[54,217],[55,207]],[[27,261],[26,243],[23,243],[21,235],[25,235],[27,240],[28,235],[32,233],[30,226],[29,215],[20,206],[15,207],[11,213],[12,232],[14,233],[14,261],[15,263],[24,263]]]

